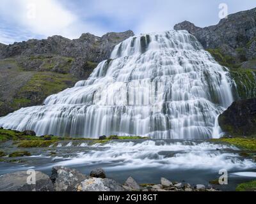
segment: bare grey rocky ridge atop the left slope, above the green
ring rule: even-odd
[[[84,33],[80,38],[69,40],[62,36],[52,36],[46,40],[28,40],[13,45],[0,46],[0,59],[10,57],[29,57],[31,55],[60,55],[63,57],[82,57],[84,61],[101,62],[110,57],[113,47],[133,36],[132,31],[107,33],[101,38]]]

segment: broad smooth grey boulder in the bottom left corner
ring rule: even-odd
[[[0,191],[54,191],[51,179],[40,171],[35,171],[35,184],[31,173],[19,171],[0,177]],[[28,182],[30,181],[30,182]],[[32,183],[32,184],[31,184]]]

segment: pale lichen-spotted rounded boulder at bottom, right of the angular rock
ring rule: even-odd
[[[77,191],[125,191],[115,180],[90,178],[77,187]]]

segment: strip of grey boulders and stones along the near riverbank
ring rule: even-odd
[[[64,166],[54,166],[50,176],[40,171],[19,171],[0,177],[0,191],[218,191],[211,186],[191,186],[161,178],[160,184],[138,184],[129,177],[124,184],[106,179],[102,169],[95,169],[89,175]],[[34,182],[33,182],[33,179]]]

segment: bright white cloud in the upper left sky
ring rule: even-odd
[[[84,31],[104,33],[89,22],[81,22],[77,15],[57,0],[1,0],[0,17],[9,25],[19,25],[24,31],[31,33],[31,36],[58,34],[73,39]],[[4,42],[12,41],[4,38],[3,32],[0,37]]]

